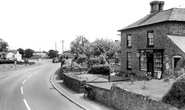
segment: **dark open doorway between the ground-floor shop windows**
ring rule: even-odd
[[[154,54],[153,52],[147,52],[147,72],[154,77]]]

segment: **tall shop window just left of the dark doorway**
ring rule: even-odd
[[[140,69],[141,70],[147,70],[147,57],[146,57],[146,52],[141,51],[140,55]]]

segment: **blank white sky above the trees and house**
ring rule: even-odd
[[[62,52],[76,36],[120,40],[117,30],[150,13],[152,0],[0,0],[0,38],[9,49]],[[164,10],[185,0],[163,0]],[[56,44],[56,46],[55,46]],[[56,47],[56,48],[55,48]]]

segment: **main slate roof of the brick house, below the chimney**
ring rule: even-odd
[[[164,21],[185,21],[185,8],[171,8],[159,11],[154,14],[148,14],[131,25],[126,26],[118,31],[136,28],[140,26],[155,24]]]

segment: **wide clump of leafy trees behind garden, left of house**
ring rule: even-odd
[[[120,42],[109,39],[96,39],[94,42],[89,40],[82,35],[71,42],[71,52],[76,54],[85,54],[88,58],[93,56],[99,56],[104,54],[109,58],[113,58],[116,52],[121,51]]]

